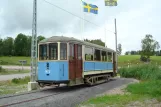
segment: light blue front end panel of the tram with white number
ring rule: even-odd
[[[38,80],[69,80],[68,61],[38,62]]]

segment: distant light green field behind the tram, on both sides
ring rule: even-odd
[[[127,66],[128,63],[131,64],[141,64],[139,55],[122,55],[118,57],[119,66]],[[26,66],[30,65],[30,57],[0,57],[0,65],[21,65],[19,60],[26,60]],[[161,65],[161,56],[151,56],[151,61]]]

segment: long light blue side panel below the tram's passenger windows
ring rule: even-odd
[[[84,62],[84,71],[113,70],[112,62]]]

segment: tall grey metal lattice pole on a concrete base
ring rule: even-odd
[[[33,0],[33,21],[31,41],[31,74],[28,90],[37,89],[37,0]]]

